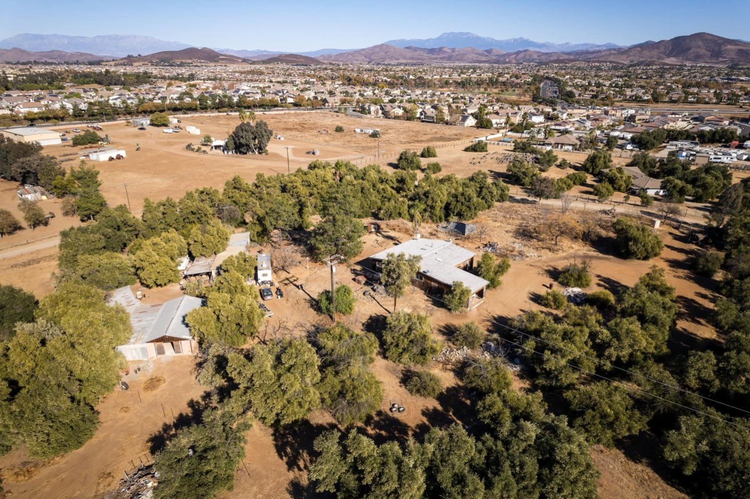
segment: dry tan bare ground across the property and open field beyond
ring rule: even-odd
[[[480,135],[475,129],[442,127],[378,119],[348,118],[333,113],[287,113],[258,116],[269,123],[275,133],[284,136],[284,141],[272,140],[269,154],[261,157],[239,157],[217,152],[196,154],[186,151],[187,142],[197,143],[205,133],[223,139],[239,123],[235,115],[199,116],[181,118],[181,126],[193,124],[201,130],[201,136],[188,135],[184,131],[164,134],[159,129],[148,127],[145,131],[127,127],[124,124],[107,124],[104,133],[110,135],[113,145],[124,148],[127,158],[120,161],[99,163],[102,190],[110,205],[126,203],[124,184],[130,196],[134,214],[139,214],[142,199],[163,199],[166,196],[179,197],[186,190],[196,187],[221,187],[233,175],[242,175],[252,181],[259,172],[275,175],[287,171],[287,150],[290,148],[292,169],[303,168],[314,158],[320,160],[359,160],[368,164],[375,139],[353,133],[354,127],[380,127],[383,138],[380,141],[381,161],[386,165],[404,148],[420,150],[425,145],[450,145],[466,141]],[[335,133],[336,125],[344,127],[344,133]],[[62,127],[67,129],[69,127]],[[328,133],[318,133],[328,130]],[[141,150],[135,151],[136,144]],[[313,148],[320,150],[320,156],[306,154]],[[437,160],[443,165],[446,175],[470,175],[478,169],[489,172],[493,177],[503,178],[509,148],[490,145],[489,151],[482,154],[466,153],[461,147],[438,148]],[[61,156],[81,148],[58,145],[45,148],[46,154]],[[561,154],[571,163],[580,163],[585,154]],[[615,157],[616,164],[625,163],[627,157]],[[430,160],[434,161],[434,160]],[[66,166],[76,162],[65,163]],[[552,168],[547,175],[559,177],[570,170]],[[8,182],[0,184],[0,208],[16,212],[15,187]],[[516,187],[511,188],[514,194]],[[578,187],[574,194],[587,195],[590,186]],[[0,240],[0,283],[20,285],[37,296],[52,291],[50,273],[56,268],[56,238],[61,229],[77,225],[77,219],[62,217],[59,202],[42,202],[45,211],[55,211],[57,217],[45,228],[31,231],[26,229],[17,235]],[[604,207],[607,208],[607,207]],[[602,209],[604,209],[602,208]],[[635,205],[632,205],[635,209]],[[524,226],[544,220],[551,213],[559,211],[559,206],[548,204],[504,203],[482,213],[474,223],[487,229],[484,241],[499,245],[503,254],[513,259],[511,269],[503,277],[500,288],[487,291],[484,303],[464,315],[452,315],[440,303],[425,296],[422,291],[411,288],[407,296],[399,301],[400,309],[422,312],[431,317],[434,330],[440,336],[450,324],[474,320],[493,328],[496,318],[512,318],[526,309],[541,308],[534,303],[535,294],[544,292],[544,285],[550,282],[550,274],[573,259],[590,260],[593,282],[589,290],[598,288],[616,291],[621,286],[633,285],[640,275],[646,273],[652,264],[667,270],[667,280],[676,287],[679,295],[679,317],[670,348],[700,345],[715,337],[715,331],[706,322],[713,289],[713,279],[697,279],[686,263],[694,247],[688,244],[687,229],[663,226],[659,232],[665,249],[661,256],[652,261],[623,260],[614,255],[612,243],[604,247],[592,248],[580,241],[562,241],[554,245],[551,241],[528,238],[523,235]],[[600,213],[601,209],[577,208],[573,213],[577,220],[592,220],[600,226],[607,226],[611,218]],[[383,223],[380,235],[367,235],[365,248],[359,258],[348,265],[339,266],[336,280],[350,285],[358,297],[355,313],[346,318],[353,327],[365,327],[371,315],[387,315],[392,309],[392,300],[385,295],[365,296],[365,288],[353,282],[357,270],[356,261],[391,247],[396,241],[406,241],[411,237],[410,224],[404,221]],[[443,238],[449,235],[440,232],[434,224],[422,226],[425,238]],[[31,241],[26,244],[26,241]],[[480,252],[478,241],[461,239],[458,244]],[[320,291],[329,288],[329,270],[321,264],[308,263],[300,255],[299,263],[290,272],[279,272],[275,277],[284,288],[283,300],[271,300],[268,306],[274,312],[273,318],[266,321],[266,334],[287,331],[302,333],[311,324],[328,324],[329,319],[314,312],[311,303]],[[288,280],[287,280],[288,279]],[[305,283],[304,291],[290,285]],[[286,284],[285,284],[286,282]],[[175,286],[147,292],[147,300],[154,303],[178,294]],[[443,339],[447,339],[443,337]],[[452,366],[433,362],[428,366],[440,376],[446,393],[458,384]],[[400,383],[401,366],[380,357],[372,366],[373,371],[383,382],[385,399],[383,407],[362,431],[370,435],[390,438],[408,438],[421,435],[429,426],[444,426],[457,420],[465,420],[468,403],[455,396],[440,396],[438,399],[423,399],[411,396]],[[190,399],[199,399],[204,392],[194,379],[193,360],[187,357],[160,361],[148,366],[142,374],[131,374],[126,378],[131,390],[127,393],[115,392],[101,402],[98,409],[102,424],[97,434],[80,450],[48,462],[28,461],[22,450],[14,450],[0,458],[0,468],[5,488],[11,497],[24,498],[92,498],[113,489],[122,472],[131,468],[130,460],[148,453],[147,440],[157,433],[162,425],[170,423],[173,417],[187,411]],[[151,380],[151,381],[148,381]],[[156,381],[154,381],[156,380]],[[151,390],[146,390],[148,387]],[[516,378],[517,387],[526,387],[528,382]],[[392,416],[387,411],[390,402],[399,401],[407,407],[407,412]],[[163,407],[162,407],[163,405]],[[173,412],[173,414],[172,414]],[[464,412],[466,414],[464,414]],[[470,413],[474,414],[474,413]],[[320,429],[333,425],[328,414],[317,412],[309,417],[301,428],[288,435],[275,434],[260,423],[254,423],[248,434],[246,458],[236,473],[235,488],[224,492],[220,498],[287,498],[316,497],[307,479],[312,438]],[[637,460],[628,458],[623,449],[606,450],[592,447],[592,457],[601,479],[598,482],[602,498],[684,498],[680,492],[668,485],[651,468]]]

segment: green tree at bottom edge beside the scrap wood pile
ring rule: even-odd
[[[203,411],[200,423],[179,429],[154,456],[159,485],[154,498],[213,498],[231,490],[239,462],[245,457],[250,425],[217,409]]]

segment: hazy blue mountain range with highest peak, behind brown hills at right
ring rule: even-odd
[[[413,38],[411,40],[390,40],[386,42],[389,45],[400,46],[419,46],[425,49],[437,49],[443,46],[452,49],[498,49],[502,52],[516,52],[518,50],[538,50],[538,52],[574,52],[576,50],[591,49],[618,49],[619,45],[615,43],[551,43],[537,42],[528,38],[508,38],[508,40],[495,40],[490,37],[481,37],[478,34],[466,32],[449,32],[443,33],[434,38]]]

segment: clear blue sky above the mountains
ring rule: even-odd
[[[498,39],[621,45],[708,31],[750,39],[750,0],[5,0],[0,39],[21,32],[142,34],[196,46],[290,52],[362,48],[471,31]],[[719,7],[719,8],[715,8]]]

